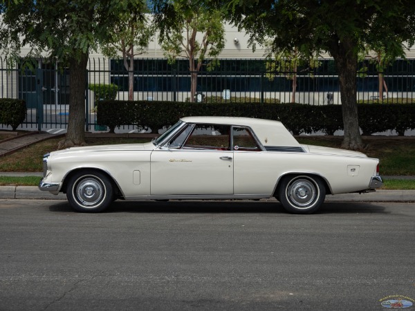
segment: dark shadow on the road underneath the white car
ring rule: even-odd
[[[75,212],[68,202],[49,206],[50,211]],[[261,201],[122,201],[113,202],[104,213],[261,213],[288,214],[279,202]],[[385,207],[365,202],[327,202],[315,214],[389,214]]]

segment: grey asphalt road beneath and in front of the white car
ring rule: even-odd
[[[0,310],[387,310],[414,241],[408,203],[0,200]]]

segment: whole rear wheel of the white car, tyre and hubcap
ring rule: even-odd
[[[277,197],[287,211],[311,214],[324,202],[326,187],[317,176],[286,176],[279,185]]]

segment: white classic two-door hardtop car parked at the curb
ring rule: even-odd
[[[382,186],[379,160],[356,151],[299,144],[281,122],[183,117],[152,142],[73,147],[44,156],[39,189],[66,193],[77,211],[126,200],[275,197],[309,214],[326,194]]]

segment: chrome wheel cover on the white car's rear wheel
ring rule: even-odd
[[[287,198],[297,209],[308,209],[317,201],[319,189],[313,180],[298,178],[287,187]]]

